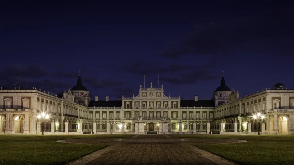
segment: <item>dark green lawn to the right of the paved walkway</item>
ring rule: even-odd
[[[294,135],[171,135],[172,137],[247,140],[237,144],[198,145],[238,164],[294,164]]]

